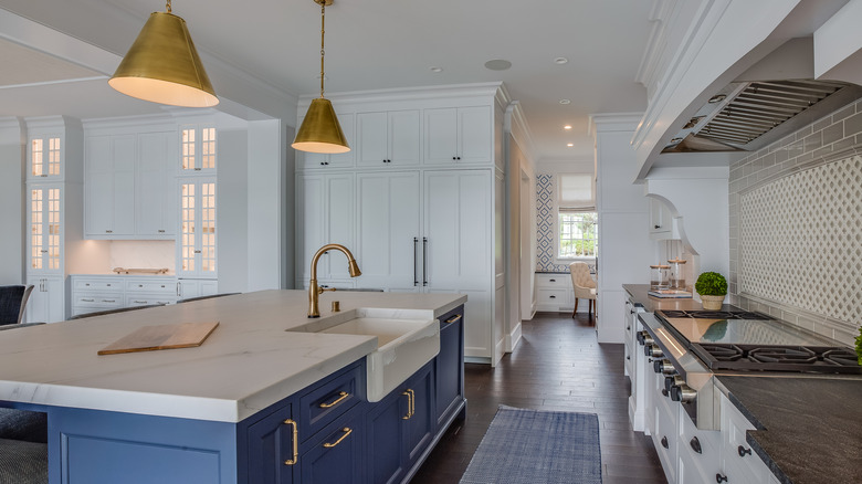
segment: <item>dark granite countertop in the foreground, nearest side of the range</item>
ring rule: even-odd
[[[746,440],[779,481],[862,481],[862,379],[718,376],[758,429]]]

